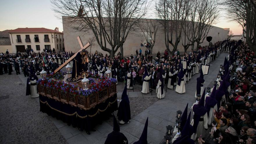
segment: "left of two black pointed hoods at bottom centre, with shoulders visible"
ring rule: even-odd
[[[128,144],[127,138],[120,132],[120,127],[116,121],[115,115],[113,116],[113,123],[113,131],[108,134],[104,144]]]

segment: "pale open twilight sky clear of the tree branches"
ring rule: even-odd
[[[0,5],[0,31],[17,28],[59,28],[63,31],[62,20],[55,17],[51,10],[49,0],[9,0],[2,1]],[[225,14],[222,14],[225,15]],[[230,28],[234,35],[242,33],[239,24],[228,22],[225,17],[221,17],[214,26]]]

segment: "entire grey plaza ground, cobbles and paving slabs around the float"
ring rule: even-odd
[[[213,87],[219,65],[223,64],[225,56],[227,53],[222,53],[210,63],[209,74],[204,76],[205,87]],[[41,113],[39,98],[25,96],[27,77],[12,73],[0,76],[0,143],[102,144],[113,130],[112,117],[103,121],[102,125],[97,125],[96,131],[88,135],[85,131],[81,132],[61,120]],[[129,124],[120,125],[120,132],[125,134],[128,142],[134,143],[140,138],[148,117],[147,141],[152,144],[161,143],[166,126],[175,125],[176,111],[183,111],[187,103],[190,108],[195,102],[197,77],[199,74],[195,74],[191,81],[186,83],[186,93],[179,94],[170,89],[166,93],[165,89],[165,98],[160,100],[157,99],[155,91],[152,95],[142,94],[139,85],[134,86],[134,91],[128,90],[132,119]],[[123,88],[124,83],[118,83],[118,99],[121,99]],[[116,113],[117,111],[115,115]]]

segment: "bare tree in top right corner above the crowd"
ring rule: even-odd
[[[246,43],[256,51],[256,1],[223,0],[221,4],[230,21],[241,25]]]

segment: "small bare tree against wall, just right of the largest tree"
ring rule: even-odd
[[[156,19],[145,19],[138,26],[141,29],[146,42],[150,45],[150,51],[152,53],[152,49],[156,42],[159,22]]]

